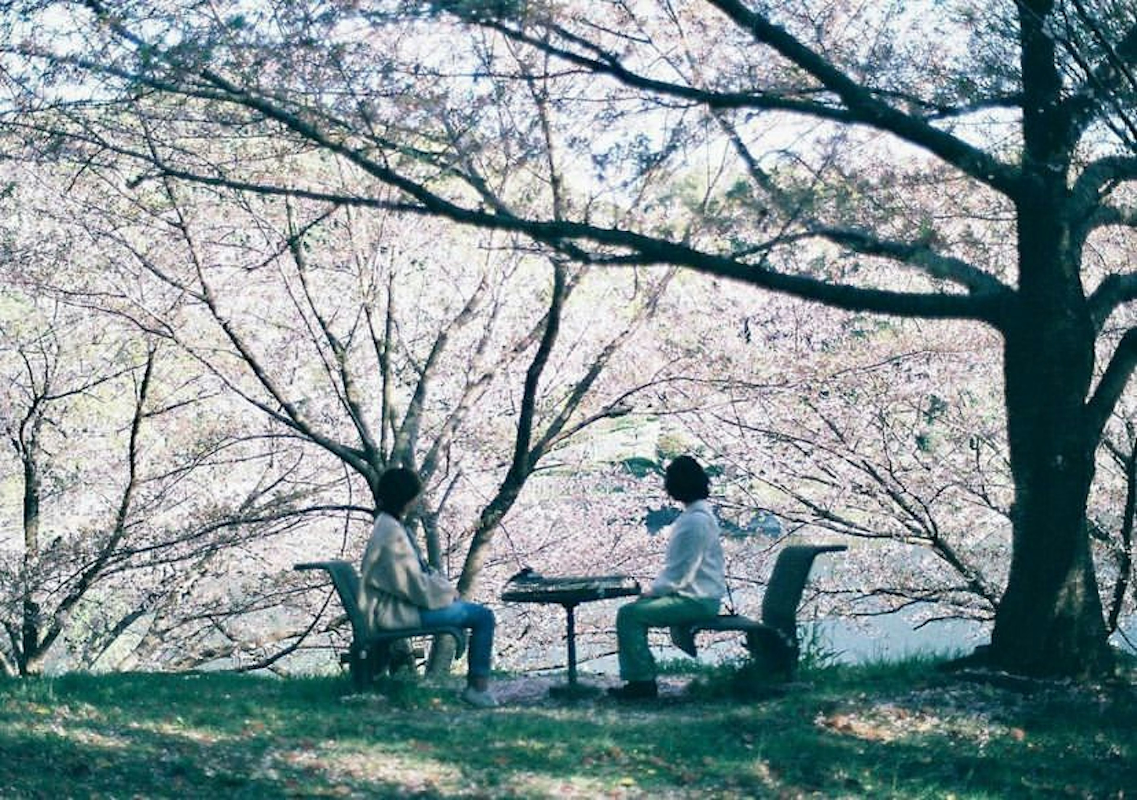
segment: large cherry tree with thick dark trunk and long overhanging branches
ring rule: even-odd
[[[131,159],[138,185],[384,206],[987,326],[1014,483],[990,660],[1110,668],[1087,502],[1137,340],[1107,327],[1124,265],[1089,253],[1132,224],[1128,3],[20,8],[8,122]],[[225,156],[254,141],[272,170]],[[298,182],[312,151],[376,190]]]

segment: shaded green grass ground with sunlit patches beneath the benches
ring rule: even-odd
[[[1134,798],[1137,689],[828,668],[746,700],[656,705],[456,683],[73,675],[0,682],[0,798]]]

